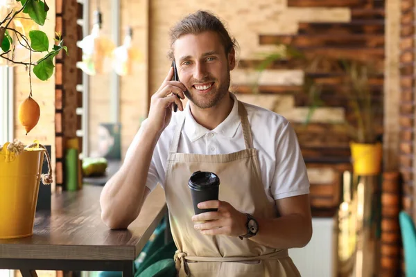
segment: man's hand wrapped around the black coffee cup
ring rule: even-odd
[[[202,235],[229,235],[238,237],[247,233],[247,216],[237,211],[231,204],[219,200],[201,202],[198,208],[218,208],[216,212],[193,215],[196,222],[194,228],[200,230]]]

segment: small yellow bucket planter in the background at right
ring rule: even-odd
[[[354,175],[378,175],[381,172],[381,143],[350,143]]]

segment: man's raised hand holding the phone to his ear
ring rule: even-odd
[[[162,85],[153,94],[150,101],[148,127],[154,129],[159,134],[171,122],[173,103],[177,105],[180,111],[184,110],[180,98],[185,98],[184,91],[187,91],[187,88],[182,82],[172,81],[172,78],[173,67],[171,67]]]

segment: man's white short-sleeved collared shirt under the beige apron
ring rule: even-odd
[[[185,116],[177,152],[192,154],[228,154],[245,149],[236,96],[230,114],[215,129],[209,130],[194,120],[189,103],[184,111],[173,113],[171,123],[157,142],[150,163],[146,186],[153,190],[157,183],[164,186],[166,160],[180,116]],[[244,103],[252,130],[253,146],[257,149],[261,178],[270,202],[309,193],[309,179],[297,136],[283,116],[268,109]],[[146,124],[144,120],[143,124]],[[139,137],[140,130],[135,136]],[[136,145],[135,142],[132,145]],[[129,148],[127,156],[134,150]]]

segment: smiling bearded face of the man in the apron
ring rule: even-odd
[[[188,89],[185,96],[200,109],[217,105],[229,89],[234,51],[226,55],[214,32],[182,35],[173,47],[180,82]]]

